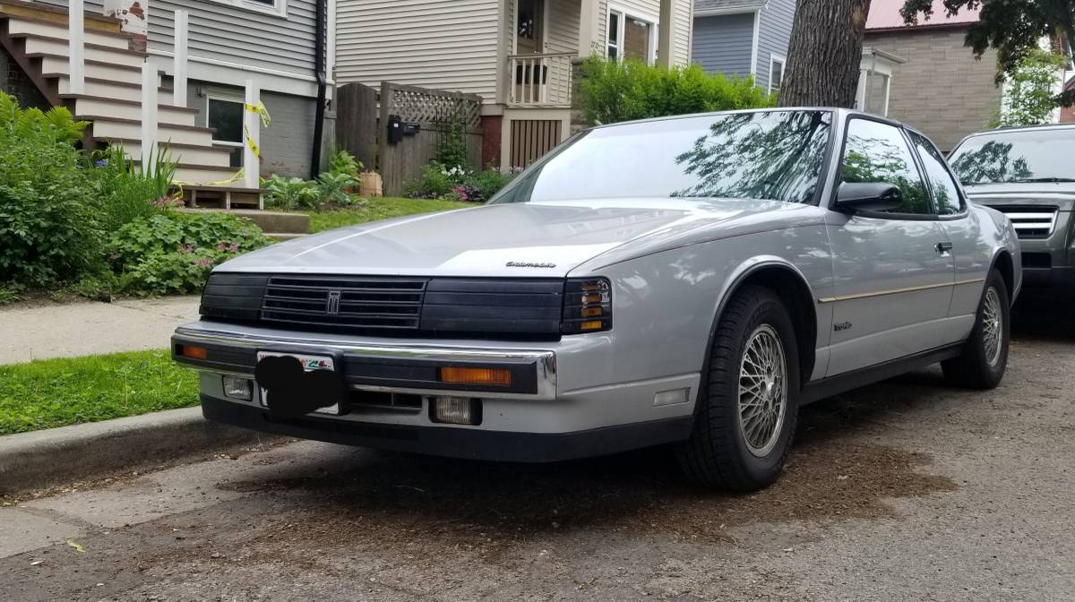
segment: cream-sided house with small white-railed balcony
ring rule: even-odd
[[[690,60],[692,0],[336,0],[340,85],[482,97],[483,162],[522,167],[571,133],[577,59]]]

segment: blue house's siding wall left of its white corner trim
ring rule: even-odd
[[[694,18],[691,58],[710,73],[750,74],[754,13]]]

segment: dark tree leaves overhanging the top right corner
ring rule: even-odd
[[[1041,52],[1041,40],[1059,35],[1075,49],[1075,5],[1072,0],[944,0],[945,14],[977,11],[977,18],[966,24],[964,45],[980,59],[990,47],[997,49],[997,84],[1015,75],[1023,59]],[[904,0],[900,14],[908,24],[917,24],[919,14],[927,23],[933,16],[933,0]],[[1075,103],[1075,89],[1052,98],[1054,106]]]

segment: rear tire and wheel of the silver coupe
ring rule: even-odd
[[[1007,368],[1009,318],[1007,286],[998,272],[991,272],[962,355],[941,362],[945,378],[973,389],[992,389],[999,385]]]

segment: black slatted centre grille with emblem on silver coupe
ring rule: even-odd
[[[425,280],[272,276],[261,301],[264,321],[416,330]]]

